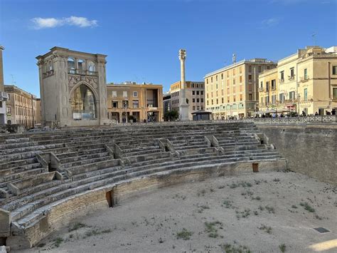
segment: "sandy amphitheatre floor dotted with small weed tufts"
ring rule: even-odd
[[[23,252],[337,252],[336,196],[294,172],[218,177],[89,213]]]

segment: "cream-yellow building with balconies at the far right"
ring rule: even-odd
[[[281,59],[276,72],[260,75],[259,91],[262,112],[274,108],[326,115],[337,108],[337,47],[306,46]]]

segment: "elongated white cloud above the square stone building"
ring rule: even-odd
[[[57,26],[78,26],[78,27],[94,27],[97,26],[97,20],[89,20],[82,16],[70,16],[69,18],[34,18],[31,19],[34,29],[47,29]]]

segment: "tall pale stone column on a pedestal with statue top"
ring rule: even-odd
[[[185,81],[185,60],[186,60],[186,50],[179,50],[179,60],[180,60],[180,71],[181,71],[181,91],[179,98],[179,118],[182,121],[188,119],[188,103],[186,103],[186,81]],[[189,101],[191,103],[191,101]]]

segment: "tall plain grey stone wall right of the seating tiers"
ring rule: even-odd
[[[337,125],[257,125],[289,170],[337,185]]]

